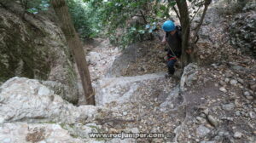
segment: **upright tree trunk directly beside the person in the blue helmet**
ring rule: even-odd
[[[176,0],[177,9],[180,15],[180,24],[182,26],[182,67],[189,64],[191,54],[187,54],[186,51],[189,49],[189,35],[190,35],[190,21],[189,21],[189,8],[185,0]],[[193,50],[193,49],[191,49]]]

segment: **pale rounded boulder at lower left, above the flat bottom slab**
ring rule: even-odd
[[[13,77],[0,87],[1,123],[84,122],[96,113],[95,106],[73,106],[38,80]]]

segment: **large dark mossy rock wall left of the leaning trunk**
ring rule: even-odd
[[[22,10],[15,2],[1,1],[0,82],[15,76],[55,81],[70,87],[63,98],[76,103],[76,74],[61,29],[40,14],[22,18]]]

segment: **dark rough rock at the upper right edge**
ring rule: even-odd
[[[255,3],[248,3],[243,11],[247,13],[237,14],[230,26],[231,43],[241,49],[241,52],[256,57]]]

